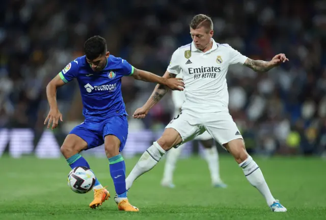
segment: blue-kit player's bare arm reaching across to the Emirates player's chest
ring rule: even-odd
[[[151,82],[151,83],[158,83],[160,85],[167,86],[171,90],[179,90],[182,91],[184,87],[184,83],[182,82],[181,78],[166,78],[166,77],[159,77],[155,74],[152,74],[151,72],[144,71],[141,69],[134,68],[133,74],[134,79],[136,80],[142,80],[145,82]]]

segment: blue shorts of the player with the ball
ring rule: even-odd
[[[102,145],[106,135],[114,135],[121,141],[119,148],[121,152],[128,137],[127,115],[114,115],[98,121],[86,119],[84,123],[74,127],[69,134],[84,139],[88,144],[86,150]]]

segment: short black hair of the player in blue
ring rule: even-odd
[[[84,43],[84,52],[89,60],[94,60],[98,56],[105,54],[106,50],[106,41],[100,36],[91,37]]]

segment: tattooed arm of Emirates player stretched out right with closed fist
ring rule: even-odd
[[[269,69],[274,68],[275,66],[279,66],[281,63],[285,61],[289,61],[286,58],[285,54],[278,54],[271,61],[266,62],[262,60],[252,60],[248,58],[243,65],[248,66],[256,72],[267,72]]]

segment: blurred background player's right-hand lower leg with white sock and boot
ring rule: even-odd
[[[220,177],[219,153],[214,144],[214,139],[200,140],[200,142],[204,146],[204,158],[208,164],[212,186],[226,188],[227,185],[223,183]]]

